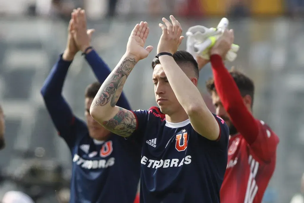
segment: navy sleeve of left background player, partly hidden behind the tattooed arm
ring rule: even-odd
[[[108,65],[105,64],[105,62],[99,57],[95,50],[92,50],[90,53],[88,53],[85,56],[85,59],[91,66],[96,78],[98,79],[98,82],[103,83],[111,73],[111,70]],[[123,92],[121,93],[119,100],[116,103],[116,106],[131,110],[130,104]]]

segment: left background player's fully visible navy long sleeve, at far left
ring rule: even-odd
[[[71,63],[72,61],[64,61],[61,54],[41,88],[43,100],[58,134],[64,138],[70,148],[77,139],[74,128],[85,127],[85,123],[73,115],[61,94]]]

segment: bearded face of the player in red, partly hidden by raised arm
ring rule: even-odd
[[[213,106],[215,108],[215,114],[218,115],[219,117],[221,117],[226,122],[226,124],[229,127],[230,135],[236,134],[237,130],[234,127],[234,125],[232,124],[230,116],[227,113],[227,111],[225,110],[225,108],[223,107],[223,104],[222,104],[221,100],[219,99],[219,96],[217,95],[217,93],[213,91],[211,94],[211,97],[212,97]]]

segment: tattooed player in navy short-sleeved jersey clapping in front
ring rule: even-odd
[[[178,21],[165,25],[152,61],[155,100],[159,106],[130,111],[116,106],[136,63],[153,47],[144,48],[146,22],[137,24],[126,54],[94,98],[90,113],[106,129],[142,145],[141,203],[220,202],[227,166],[229,130],[212,114],[199,90],[198,65],[186,51],[177,51],[183,37]]]

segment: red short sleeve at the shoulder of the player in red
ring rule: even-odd
[[[264,121],[256,120],[256,122],[258,135],[249,146],[258,158],[268,162],[276,153],[279,138]]]

